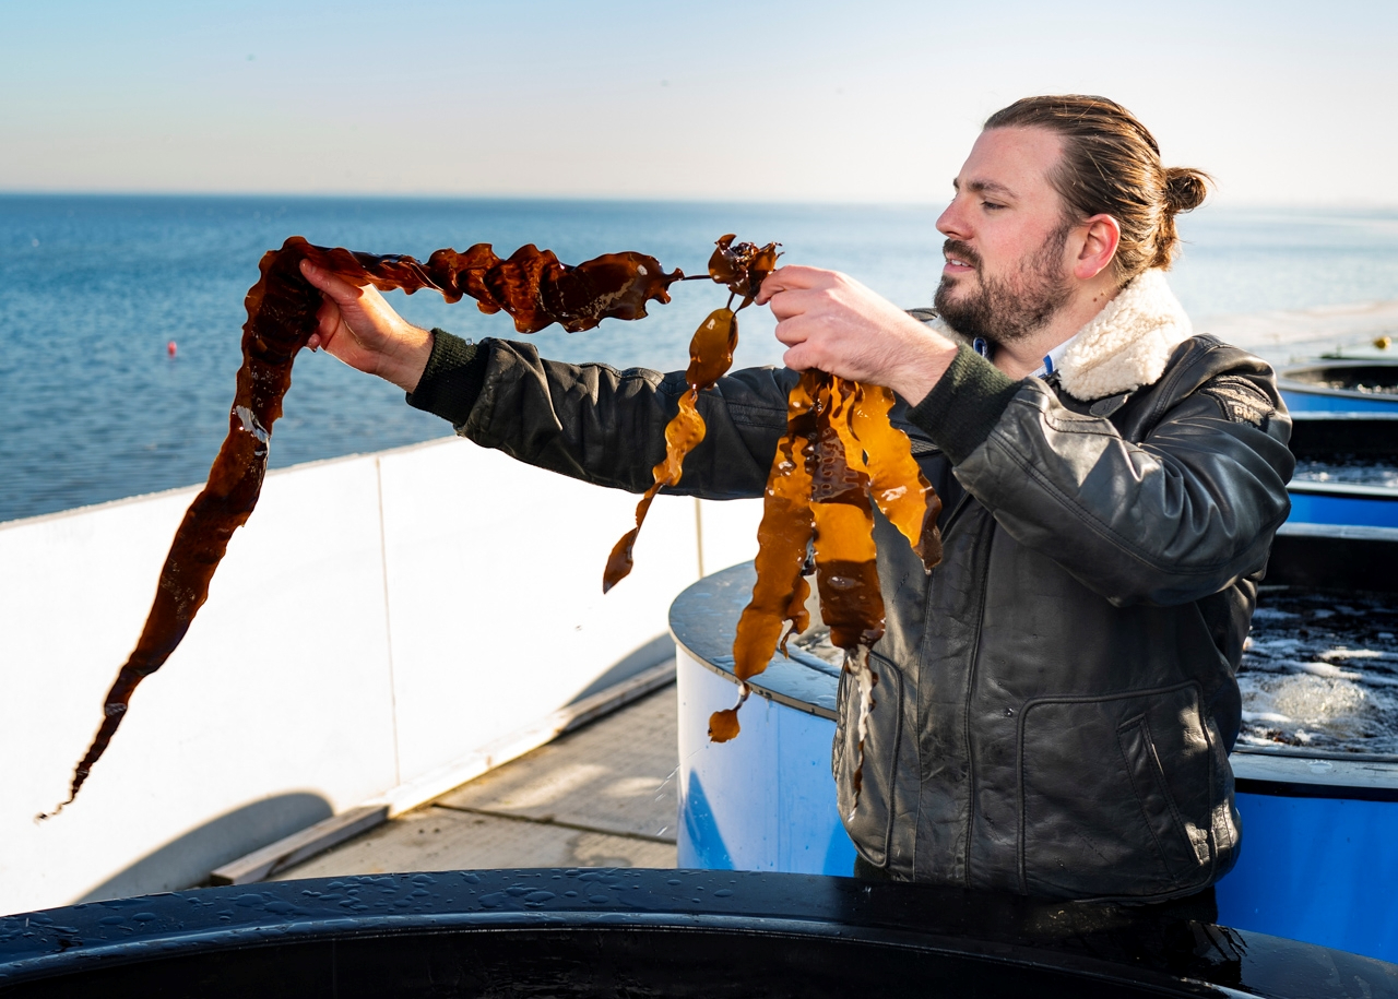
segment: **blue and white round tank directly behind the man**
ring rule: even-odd
[[[1398,530],[1285,525],[1269,585],[1398,590]],[[793,650],[749,683],[742,732],[707,741],[738,686],[731,643],[752,563],[716,573],[671,606],[679,679],[679,862],[714,869],[849,873],[830,743],[839,672]],[[1398,669],[1398,662],[1394,664]],[[1244,929],[1398,961],[1398,754],[1233,754],[1243,851],[1218,886],[1219,917]],[[800,868],[798,868],[800,865]]]

